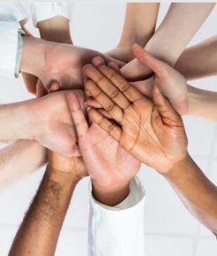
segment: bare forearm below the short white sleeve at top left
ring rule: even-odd
[[[64,44],[72,44],[70,35],[70,20],[62,16],[55,16],[37,23],[42,39]]]

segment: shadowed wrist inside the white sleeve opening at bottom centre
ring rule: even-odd
[[[93,197],[103,205],[114,206],[122,202],[130,192],[129,181],[102,186],[92,180]]]

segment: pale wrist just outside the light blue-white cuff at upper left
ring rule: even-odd
[[[45,65],[45,52],[48,42],[27,36],[23,36],[22,41],[20,71],[40,77]]]

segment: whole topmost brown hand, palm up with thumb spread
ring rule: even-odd
[[[120,127],[96,109],[90,109],[88,115],[126,152],[161,173],[186,156],[188,140],[182,118],[156,85],[152,88],[152,103],[107,66],[88,66],[85,74],[91,78],[86,83],[88,94]]]

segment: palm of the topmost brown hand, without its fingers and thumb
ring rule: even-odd
[[[176,154],[182,153],[178,152],[178,148],[185,133],[178,123],[175,128],[163,124],[161,128],[157,127],[153,113],[154,104],[147,99],[131,104],[124,111],[119,143],[127,152],[152,168],[169,169],[174,150]]]

